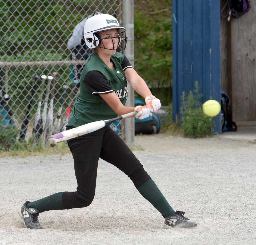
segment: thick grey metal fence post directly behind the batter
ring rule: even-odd
[[[126,28],[126,36],[128,37],[126,49],[124,55],[130,61],[131,65],[134,67],[134,0],[123,0],[123,26]],[[126,106],[134,107],[134,90],[128,83],[128,99]],[[124,140],[130,145],[135,145],[134,138],[134,118],[127,118],[124,120]]]

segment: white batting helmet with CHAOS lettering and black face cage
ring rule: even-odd
[[[111,29],[118,30],[119,50],[125,50],[126,43],[127,43],[127,37],[125,36],[125,28],[121,27],[118,23],[118,20],[109,14],[97,14],[86,20],[85,26],[83,28],[83,35],[85,37],[86,45],[91,49],[98,47],[102,39],[112,38],[112,37],[101,38],[101,32],[111,30]],[[105,48],[105,47],[101,47],[101,48]],[[105,48],[105,49],[109,49],[109,48]],[[113,45],[113,50],[114,50],[114,45]]]

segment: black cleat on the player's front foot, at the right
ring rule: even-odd
[[[174,214],[165,218],[165,224],[171,227],[196,228],[197,223],[184,217],[184,214],[185,212],[177,210]]]

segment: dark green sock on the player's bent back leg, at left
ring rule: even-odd
[[[34,202],[27,204],[28,208],[36,208],[39,212],[45,212],[48,210],[61,210],[66,209],[62,202],[63,192],[55,193],[51,196],[44,197]]]

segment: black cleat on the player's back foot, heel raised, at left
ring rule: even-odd
[[[36,208],[28,208],[26,201],[21,207],[21,218],[24,221],[24,225],[30,229],[43,229],[43,227],[38,222],[39,211]]]

